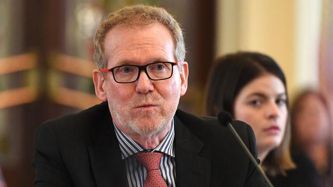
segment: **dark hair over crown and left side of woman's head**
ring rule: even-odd
[[[267,55],[238,52],[218,58],[210,73],[206,114],[216,116],[221,110],[226,110],[234,115],[234,102],[240,90],[267,73],[278,77],[287,89],[281,68]]]

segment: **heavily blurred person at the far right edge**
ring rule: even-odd
[[[307,89],[295,98],[292,110],[292,150],[297,169],[279,186],[333,186],[332,121],[325,97]]]

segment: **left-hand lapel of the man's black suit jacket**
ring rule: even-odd
[[[110,113],[94,125],[91,135],[93,142],[88,152],[97,186],[127,186],[124,161],[120,156]]]

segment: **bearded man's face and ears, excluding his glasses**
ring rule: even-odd
[[[170,31],[160,23],[133,28],[117,26],[105,38],[108,68],[144,65],[156,61],[175,62]],[[170,79],[152,81],[144,71],[136,82],[120,84],[112,73],[103,79],[94,73],[96,94],[108,100],[115,124],[127,134],[152,135],[170,127],[179,98],[187,89],[188,65],[173,67]]]

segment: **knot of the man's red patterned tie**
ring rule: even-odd
[[[138,152],[134,155],[135,159],[147,170],[159,170],[163,154],[158,152]]]

